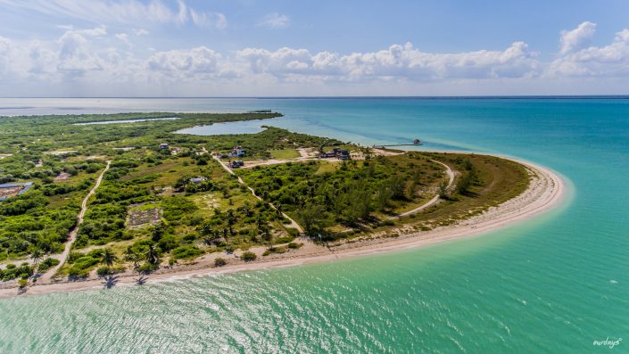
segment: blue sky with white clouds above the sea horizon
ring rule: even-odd
[[[629,95],[629,2],[0,0],[0,96]]]

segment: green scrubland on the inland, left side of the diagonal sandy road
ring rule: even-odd
[[[180,119],[74,125],[173,116]],[[28,193],[0,202],[0,261],[30,254],[40,260],[45,254],[62,251],[76,226],[80,202],[105,161],[112,161],[111,169],[89,201],[73,245],[74,256],[63,266],[62,275],[87,276],[102,263],[98,250],[103,245],[111,245],[115,259],[110,263],[131,262],[123,254],[130,245],[141,254],[137,268],[151,270],[167,257],[194,259],[207,251],[286,237],[282,225],[286,220],[253,198],[207,152],[228,152],[244,145],[247,158],[268,158],[271,151],[297,153],[295,146],[322,144],[328,139],[278,128],[255,135],[175,133],[213,122],[277,116],[164,112],[0,118],[0,153],[12,154],[0,160],[0,181],[34,183]],[[161,149],[162,143],[169,148]],[[203,182],[192,183],[197,177]],[[96,249],[81,251],[87,247]],[[145,259],[148,247],[156,256],[151,261]],[[38,269],[52,268],[53,262],[46,260]]]

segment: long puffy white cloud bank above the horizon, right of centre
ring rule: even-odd
[[[477,51],[459,54],[429,54],[413,45],[392,45],[370,53],[310,54],[306,49],[280,48],[275,52],[246,48],[237,57],[249,63],[253,73],[278,77],[287,74],[324,76],[336,79],[438,79],[438,78],[517,78],[537,70],[536,54],[523,42],[504,51]]]

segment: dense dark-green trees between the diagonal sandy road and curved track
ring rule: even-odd
[[[377,223],[432,198],[430,191],[446,178],[441,165],[413,153],[337,163],[320,173],[322,164],[328,162],[261,166],[238,174],[309,235]]]

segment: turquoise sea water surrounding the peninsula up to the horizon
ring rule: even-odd
[[[100,102],[96,102],[100,101]],[[0,300],[2,353],[629,352],[627,99],[0,99],[0,115],[274,109],[360,144],[534,161],[558,209],[325,264]],[[615,348],[597,341],[618,341]]]

